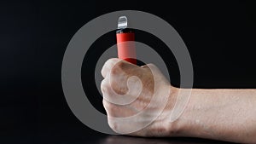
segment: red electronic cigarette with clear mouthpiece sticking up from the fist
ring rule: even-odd
[[[134,32],[127,28],[126,16],[120,16],[118,22],[118,31],[116,32],[118,56],[123,59],[137,64],[136,49],[134,43]]]

